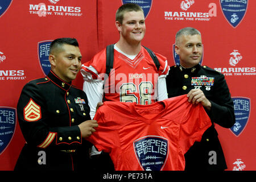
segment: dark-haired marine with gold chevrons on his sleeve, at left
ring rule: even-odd
[[[86,94],[72,85],[81,68],[80,58],[77,60],[77,54],[81,54],[78,44],[69,46],[66,40],[61,39],[55,47],[57,50],[52,53],[55,58],[50,56],[56,63],[48,75],[28,82],[20,94],[17,113],[26,143],[15,170],[90,169],[92,144],[85,140],[80,129],[81,123],[92,121],[90,108]]]

